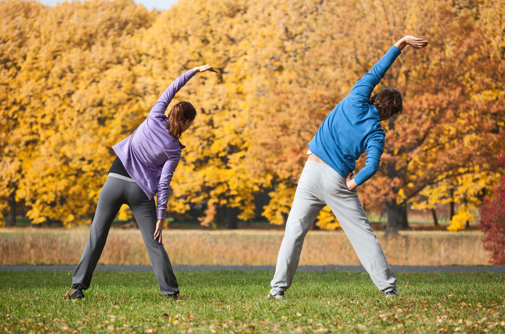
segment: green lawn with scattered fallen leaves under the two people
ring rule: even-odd
[[[151,272],[95,272],[65,301],[71,273],[0,272],[0,333],[505,333],[505,274],[399,274],[385,299],[367,274],[297,272],[286,300],[266,300],[272,271],[178,272],[185,300]]]

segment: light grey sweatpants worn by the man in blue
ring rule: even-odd
[[[379,245],[357,191],[350,191],[345,179],[332,167],[307,161],[286,223],[274,279],[270,285],[286,291],[295,276],[303,240],[321,209],[327,205],[337,217],[343,231],[372,281],[383,292],[396,289],[396,276]]]

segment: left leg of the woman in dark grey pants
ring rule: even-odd
[[[100,191],[88,242],[84,246],[81,261],[77,264],[72,276],[73,289],[86,290],[89,288],[93,271],[102,256],[110,225],[116,214],[118,214],[121,205],[124,204],[123,189],[126,189],[126,182],[108,177]]]

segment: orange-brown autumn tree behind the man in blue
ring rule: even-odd
[[[331,15],[333,20],[318,22],[319,27],[328,27],[316,32],[321,36],[316,41],[324,42],[320,48],[316,45],[307,51],[304,60],[289,68],[291,71],[303,68],[317,83],[311,83],[303,75],[290,81],[292,85],[289,86],[278,83],[280,87],[288,87],[286,95],[291,92],[291,98],[283,100],[288,101],[285,102],[288,106],[282,108],[282,113],[288,115],[285,123],[289,126],[283,131],[285,123],[274,122],[265,132],[277,131],[288,137],[297,133],[294,127],[298,124],[305,122],[304,127],[309,129],[318,117],[317,124],[320,124],[326,113],[389,47],[383,41],[389,39],[391,45],[400,37],[398,32],[416,31],[431,40],[429,48],[418,53],[405,49],[377,88],[400,88],[404,92],[407,112],[384,125],[386,146],[381,169],[360,187],[363,204],[367,208],[385,210],[388,231],[396,233],[399,227],[407,224],[406,204],[417,201],[419,194],[429,187],[458,178],[472,182],[484,178],[488,181],[481,184],[489,184],[495,174],[481,171],[496,170],[493,157],[496,151],[503,149],[500,109],[503,90],[500,76],[495,73],[502,71],[503,62],[490,58],[493,49],[482,45],[485,35],[479,29],[475,8],[450,2],[397,1],[331,7],[345,13],[342,16],[345,22],[344,18],[339,21],[337,14]],[[324,13],[332,13],[332,9]],[[356,17],[357,21],[349,17]],[[355,29],[346,29],[346,22],[352,22]],[[339,38],[340,32],[343,38]],[[369,37],[363,41],[362,36]],[[346,41],[350,41],[348,45]],[[345,69],[338,72],[340,78],[332,73],[334,68]],[[333,81],[339,88],[332,94]],[[310,89],[312,86],[320,88],[318,93]],[[324,106],[328,101],[325,97],[331,101],[329,108]],[[301,138],[299,142],[310,140],[310,136],[296,137]],[[279,142],[283,140],[284,137]],[[297,144],[296,147],[303,146]],[[304,159],[303,153],[302,148],[296,156]],[[283,161],[283,155],[278,156],[281,156],[278,160]],[[285,161],[293,161],[293,158]],[[465,162],[463,168],[461,161]],[[357,168],[363,164],[364,159],[360,159]],[[274,178],[278,182],[295,183],[293,178],[278,175],[279,178]],[[468,202],[477,203],[474,199],[481,192],[479,189],[465,197]]]

